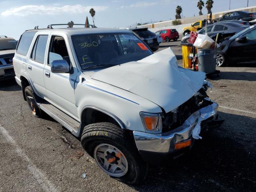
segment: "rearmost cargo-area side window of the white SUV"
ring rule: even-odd
[[[18,46],[17,46],[17,53],[21,55],[26,55],[28,53],[28,49],[30,44],[34,38],[36,32],[24,32],[20,37]]]

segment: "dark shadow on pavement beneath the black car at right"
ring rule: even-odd
[[[227,72],[221,71],[220,77],[216,78],[226,80],[256,81],[256,73],[254,72]]]

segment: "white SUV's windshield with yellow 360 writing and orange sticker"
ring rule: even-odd
[[[152,54],[132,33],[75,35],[72,42],[82,70],[107,68]]]

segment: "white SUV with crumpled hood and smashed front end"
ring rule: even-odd
[[[177,65],[170,48],[153,54],[125,29],[24,32],[13,59],[16,81],[34,116],[44,111],[72,134],[110,176],[128,184],[147,162],[177,156],[218,126],[203,72]]]

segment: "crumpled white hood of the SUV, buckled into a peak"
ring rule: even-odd
[[[198,92],[205,73],[179,67],[167,48],[142,60],[100,70],[91,78],[146,98],[169,112]]]

